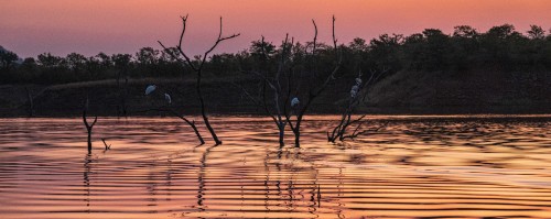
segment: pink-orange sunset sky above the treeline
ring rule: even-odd
[[[425,28],[451,32],[469,24],[486,31],[511,23],[551,28],[550,0],[0,0],[0,45],[20,56],[43,52],[136,53],[140,47],[176,43],[179,15],[190,14],[187,50],[196,54],[214,41],[219,15],[225,31],[241,36],[216,52],[246,48],[264,35],[279,43],[285,33],[300,41],[329,39],[331,17],[337,18],[339,42],[381,33],[411,34]]]

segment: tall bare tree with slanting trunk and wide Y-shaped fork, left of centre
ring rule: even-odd
[[[202,92],[202,89],[201,89],[201,80],[202,80],[203,66],[206,63],[206,58],[208,57],[208,55],[210,54],[210,52],[213,52],[216,48],[216,46],[218,46],[219,43],[222,43],[223,41],[226,41],[226,40],[230,40],[230,39],[237,37],[240,34],[238,33],[238,34],[229,35],[229,36],[223,36],[222,35],[222,28],[223,28],[222,24],[223,23],[222,23],[222,17],[220,17],[220,30],[218,32],[218,37],[216,39],[216,42],[214,43],[214,45],[203,54],[203,56],[201,57],[201,61],[197,64],[197,63],[194,63],[190,58],[190,56],[187,56],[184,53],[184,51],[182,48],[182,42],[183,42],[183,39],[184,39],[184,33],[185,33],[185,29],[186,29],[186,24],[187,24],[187,15],[181,17],[181,18],[182,18],[182,25],[183,26],[182,26],[182,33],[180,34],[180,42],[176,45],[176,48],[177,48],[179,53],[177,54],[172,53],[160,41],[159,41],[159,44],[161,44],[161,46],[171,56],[173,56],[175,59],[179,59],[182,63],[186,64],[187,66],[190,66],[196,73],[196,75],[197,75],[197,81],[196,81],[195,88],[196,88],[196,91],[197,91],[197,96],[199,98],[201,114],[203,117],[203,121],[205,122],[206,128],[208,129],[208,132],[210,132],[210,135],[213,136],[213,140],[214,140],[215,144],[218,145],[218,144],[222,144],[222,141],[218,139],[218,136],[216,135],[216,132],[214,131],[213,127],[210,125],[210,122],[208,121],[208,116],[207,116],[207,112],[206,112],[206,109],[205,109],[205,100],[203,98],[203,92]]]

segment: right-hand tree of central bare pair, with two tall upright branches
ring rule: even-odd
[[[302,96],[302,103],[300,101],[300,99],[298,97],[294,97],[291,99],[291,107],[293,108],[292,109],[292,114],[291,112],[289,112],[289,109],[288,109],[288,105],[284,105],[284,114],[285,114],[285,119],[287,119],[287,122],[289,123],[289,127],[291,128],[291,130],[293,131],[293,134],[294,134],[294,145],[295,147],[300,147],[301,143],[300,143],[300,139],[301,139],[301,124],[302,124],[302,121],[303,121],[303,118],[304,118],[304,114],[306,113],[306,111],[309,110],[309,108],[311,107],[312,102],[317,98],[320,97],[320,95],[327,88],[327,86],[329,85],[329,83],[335,78],[337,72],[341,68],[341,65],[343,63],[343,54],[342,54],[342,51],[337,47],[337,40],[335,37],[335,17],[333,17],[333,29],[332,29],[332,32],[333,32],[333,52],[335,54],[335,63],[334,63],[334,67],[329,70],[329,73],[325,76],[323,76],[322,73],[320,73],[317,69],[314,69],[315,68],[315,62],[316,62],[316,57],[317,57],[317,25],[315,24],[315,21],[312,20],[312,23],[314,25],[314,41],[312,42],[312,52],[310,54],[310,56],[312,57],[312,69],[310,69],[310,81],[307,83],[307,88],[306,88],[306,92],[307,95],[306,96]],[[291,81],[291,77],[292,77],[292,72],[289,76],[289,89],[288,89],[288,97],[291,97],[291,92],[293,89],[292,88],[292,81]],[[315,81],[322,81],[321,84],[315,84]],[[301,90],[301,87],[298,86],[296,87],[296,90]],[[288,98],[289,99],[289,98]],[[292,116],[295,116],[295,119],[293,120],[292,119]]]

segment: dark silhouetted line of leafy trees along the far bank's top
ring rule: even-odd
[[[311,43],[296,42],[291,46],[293,63],[307,63],[304,55]],[[355,77],[358,69],[396,73],[402,69],[415,72],[549,72],[551,70],[551,34],[537,25],[527,33],[505,24],[494,26],[485,33],[461,25],[451,34],[436,29],[409,36],[382,34],[370,42],[355,39],[342,44],[344,76]],[[238,53],[213,55],[205,64],[206,77],[228,76],[255,69],[276,68],[282,45],[253,41],[248,50]],[[179,77],[190,72],[170,53],[143,47],[136,54],[100,53],[86,57],[72,53],[60,57],[50,53],[36,58],[21,59],[17,54],[0,47],[0,84],[64,84],[101,79]],[[263,50],[263,51],[262,51]],[[333,64],[332,46],[321,45],[316,53],[316,68]],[[201,59],[196,56],[195,59]]]

